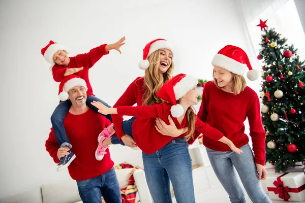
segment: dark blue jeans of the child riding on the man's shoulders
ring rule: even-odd
[[[94,95],[90,95],[90,96],[87,97],[86,105],[90,109],[93,109],[95,112],[98,112],[98,109],[96,107],[94,107],[92,104],[90,104],[94,100],[95,101],[100,101],[105,106],[111,108],[109,105],[107,105],[101,99],[95,97]],[[55,133],[55,137],[57,139],[57,142],[58,142],[59,146],[60,147],[68,146],[70,149],[72,148],[72,145],[69,142],[69,139],[68,139],[65,127],[64,127],[64,119],[65,119],[71,105],[72,104],[71,104],[70,100],[62,101],[56,107],[56,109],[54,110],[54,112],[51,116],[51,123],[52,123],[54,133]],[[103,115],[103,116],[105,116],[105,115]],[[108,114],[105,117],[108,118],[112,122],[111,114]]]

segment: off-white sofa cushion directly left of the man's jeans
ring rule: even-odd
[[[58,183],[42,185],[41,190],[44,203],[72,203],[81,200],[77,183],[71,178]]]

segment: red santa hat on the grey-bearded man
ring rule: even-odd
[[[59,84],[59,99],[65,101],[69,98],[69,90],[75,86],[83,86],[87,91],[86,81],[77,75],[71,75]]]

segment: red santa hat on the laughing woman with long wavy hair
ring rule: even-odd
[[[173,47],[164,39],[157,39],[149,42],[143,49],[143,60],[140,60],[139,67],[142,70],[146,70],[149,67],[149,61],[147,60],[150,54],[159,49],[169,49],[173,54]]]

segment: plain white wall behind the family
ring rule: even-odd
[[[90,70],[94,93],[113,105],[143,71],[142,50],[156,38],[175,47],[175,74],[211,79],[210,61],[224,45],[249,51],[246,31],[234,1],[113,0],[0,1],[0,198],[67,178],[45,150],[58,104],[40,50],[49,40],[65,44],[70,55],[84,53],[126,36],[119,55],[103,57]],[[252,56],[255,58],[255,56]],[[111,147],[115,163],[142,166],[141,152]]]

